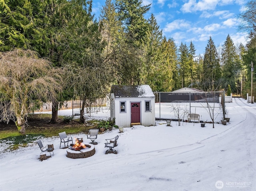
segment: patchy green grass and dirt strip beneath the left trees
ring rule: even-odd
[[[79,124],[79,119],[74,120],[66,116],[58,116],[58,118],[61,120],[58,124],[49,125],[47,123],[51,119],[51,114],[29,114],[28,124],[33,122],[34,125],[26,128],[26,135],[20,135],[15,126],[0,128],[0,143],[8,142],[10,144],[9,148],[16,150],[20,147],[26,147],[28,143],[35,142],[42,137],[59,136],[59,133],[64,131],[69,135],[87,134],[89,129],[96,128],[99,122],[98,120],[87,121],[86,125]],[[38,122],[41,122],[40,125],[38,125]]]

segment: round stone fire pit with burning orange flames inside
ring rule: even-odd
[[[95,147],[92,144],[83,144],[76,140],[76,143],[67,149],[68,158],[87,158],[95,154]]]

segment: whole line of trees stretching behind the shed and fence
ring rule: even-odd
[[[90,0],[0,0],[0,122],[16,121],[25,134],[26,114],[40,102],[80,99],[84,108],[110,92],[112,84],[148,84],[154,92],[182,87],[246,95],[256,61],[256,3],[239,15],[246,45],[227,33],[216,47],[209,37],[204,55],[191,41],[176,45],[162,34],[142,0],[106,0],[100,17]],[[253,91],[256,95],[256,91]]]

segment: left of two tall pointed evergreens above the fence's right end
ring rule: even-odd
[[[215,91],[219,87],[221,77],[220,61],[218,52],[212,37],[208,40],[205,48],[202,83],[205,91]]]

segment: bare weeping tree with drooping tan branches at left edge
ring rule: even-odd
[[[61,90],[60,70],[34,51],[14,49],[0,53],[0,122],[15,121],[26,133],[26,114],[35,102],[54,100]]]

